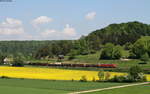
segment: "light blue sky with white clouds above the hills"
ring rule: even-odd
[[[78,39],[113,23],[150,24],[149,11],[150,0],[0,0],[0,40]]]

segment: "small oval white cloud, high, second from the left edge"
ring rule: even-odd
[[[34,26],[36,25],[39,25],[39,24],[45,24],[45,23],[49,23],[49,22],[52,22],[53,19],[52,18],[49,18],[47,16],[40,16],[40,17],[37,17],[35,18],[33,21],[32,21],[32,24]]]

